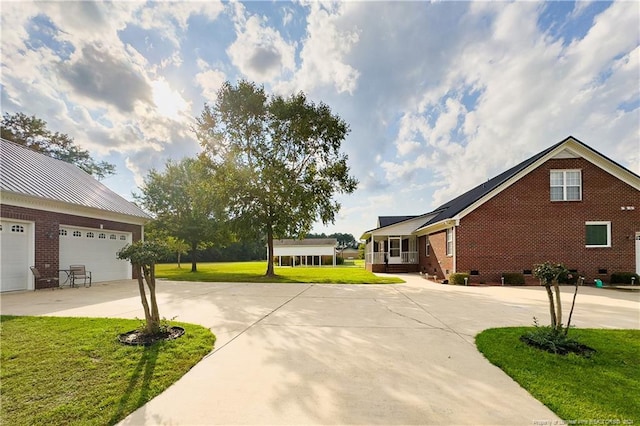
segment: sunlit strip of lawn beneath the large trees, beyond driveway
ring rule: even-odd
[[[334,283],[334,284],[392,284],[403,280],[379,277],[359,267],[345,266],[307,267],[283,266],[275,268],[276,277],[266,278],[267,262],[198,263],[198,272],[191,272],[191,264],[156,265],[156,277],[173,281],[254,282],[254,283]]]

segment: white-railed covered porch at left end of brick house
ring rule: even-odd
[[[365,248],[365,267],[372,272],[417,272],[417,238],[414,235],[372,234]]]

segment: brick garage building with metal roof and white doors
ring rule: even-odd
[[[0,141],[0,291],[33,290],[30,266],[64,280],[85,265],[93,282],[131,279],[116,252],[151,218],[73,164]]]

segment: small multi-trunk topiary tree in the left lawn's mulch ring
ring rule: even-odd
[[[120,249],[116,256],[131,262],[138,275],[138,290],[140,300],[144,308],[146,322],[145,334],[158,334],[160,332],[160,312],[156,299],[156,273],[155,265],[169,254],[169,249],[157,241],[136,241],[127,244]],[[149,298],[145,291],[145,283],[149,288]]]

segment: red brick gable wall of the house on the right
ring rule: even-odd
[[[549,172],[582,170],[582,201],[551,202]],[[635,210],[621,210],[635,206]],[[585,222],[611,222],[611,248],[585,247]],[[546,260],[577,269],[588,281],[598,269],[635,271],[640,191],[584,159],[549,160],[465,216],[456,230],[457,270],[472,281],[499,282]]]

